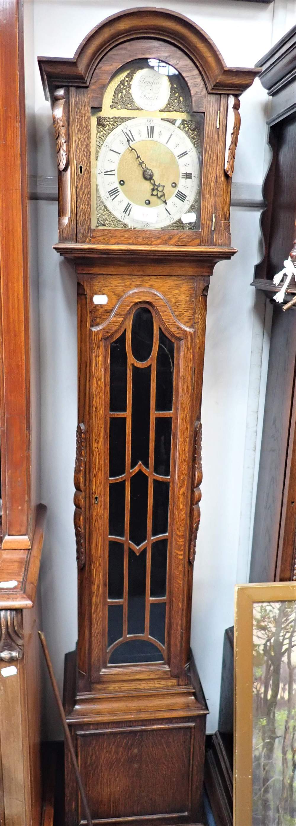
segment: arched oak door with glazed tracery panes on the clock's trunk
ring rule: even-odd
[[[137,289],[91,335],[92,682],[180,672],[195,333]]]

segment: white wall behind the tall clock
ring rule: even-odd
[[[134,5],[159,5],[191,17],[213,38],[228,65],[254,65],[272,42],[274,4],[35,0],[35,57],[73,56],[93,26],[123,6]],[[291,2],[277,0],[277,5],[283,10]],[[279,26],[284,26],[283,20],[284,12]],[[51,112],[35,65],[38,173],[52,176],[56,175],[56,160]],[[265,92],[256,81],[242,96],[237,182],[261,184],[265,105]],[[249,286],[258,258],[259,211],[235,207],[231,219],[238,253],[232,262],[218,264],[209,288],[202,406],[204,481],[192,612],[192,648],[210,709],[208,731],[217,727],[223,631],[233,623],[233,586],[237,578],[246,582],[248,575],[255,456],[261,439],[257,433],[259,392],[261,385],[264,388],[268,354],[268,335],[263,337],[265,301],[256,299]],[[49,508],[42,560],[43,615],[62,686],[63,655],[74,647],[77,636],[73,533],[77,341],[76,279],[71,265],[51,249],[57,230],[56,202],[38,202],[41,497]],[[54,738],[59,723],[50,694],[47,700],[48,734]]]

